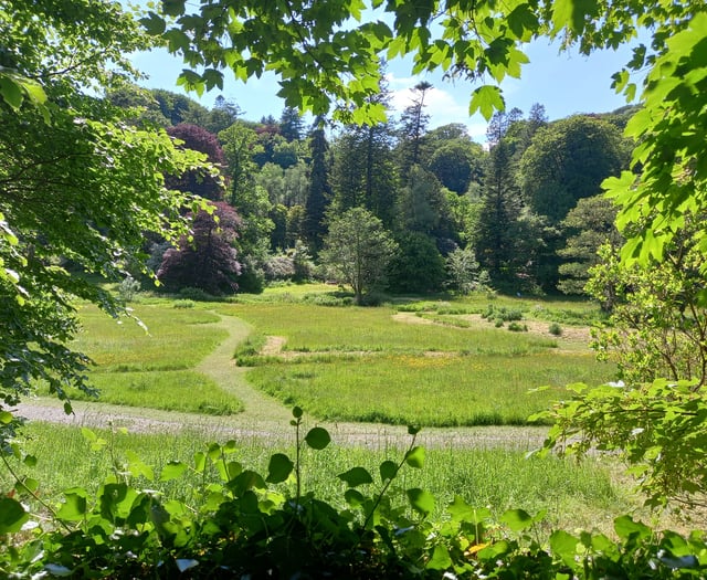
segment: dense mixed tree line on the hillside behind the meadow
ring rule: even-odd
[[[166,128],[220,169],[168,176],[171,187],[213,202],[219,226],[197,217],[193,239],[177,250],[151,240],[150,265],[165,287],[260,292],[318,276],[350,284],[359,302],[386,288],[581,294],[601,243],[621,242],[600,193],[627,167],[621,133],[634,107],[552,123],[541,105],[527,116],[496,113],[484,147],[461,123],[429,127],[431,89],[419,83],[395,118],[383,84],[374,101],[387,120],[317,117],[312,126],[292,107],[252,122],[222,96],[209,109],[165,89],[110,93],[134,123]],[[351,254],[357,226],[387,251],[373,257],[359,244]],[[344,263],[357,259],[358,270]]]

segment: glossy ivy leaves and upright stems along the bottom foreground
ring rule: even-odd
[[[4,497],[0,531],[14,535],[31,519],[38,527],[21,547],[0,551],[0,569],[14,577],[38,573],[95,578],[233,578],[234,576],[320,576],[339,578],[562,578],[612,576],[695,578],[704,572],[707,546],[699,534],[684,538],[652,530],[629,516],[614,523],[619,542],[601,534],[579,537],[557,530],[542,544],[537,534],[544,514],[508,509],[494,519],[456,496],[446,520],[431,515],[435,497],[404,484],[404,473],[425,465],[425,450],[411,442],[398,460],[377,471],[354,466],[336,477],[342,502],[328,504],[303,486],[306,457],[330,445],[319,426],[304,430],[294,408],[295,455],[271,455],[263,475],[238,461],[234,441],[212,443],[191,462],[170,462],[158,473],[130,454],[95,494],[83,487],[64,492],[52,507],[50,525]],[[110,442],[89,430],[95,450]],[[6,465],[10,464],[3,456]],[[28,458],[28,462],[30,460]],[[20,498],[39,499],[36,482],[14,476]],[[144,483],[202,476],[200,493],[163,499]],[[341,507],[339,507],[341,506]],[[397,531],[397,532],[394,532]],[[128,555],[126,557],[126,555]]]

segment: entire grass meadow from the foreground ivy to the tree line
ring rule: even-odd
[[[317,304],[323,302],[318,296],[335,304],[326,286],[276,288],[261,296],[239,297],[235,303],[190,307],[167,298],[150,299],[135,305],[135,315],[149,334],[130,320],[117,324],[84,306],[84,330],[73,346],[97,363],[91,378],[101,390],[98,401],[209,415],[243,411],[233,418],[211,416],[209,424],[221,425],[221,440],[225,425],[247,425],[249,416],[254,416],[232,389],[219,382],[234,376],[231,351],[213,358],[214,349],[223,350],[219,345],[231,344],[229,340],[239,362],[250,367],[244,377],[251,392],[267,393],[284,407],[300,405],[309,420],[330,424],[523,425],[529,414],[563,397],[564,384],[598,383],[613,376],[613,368],[598,363],[585,347],[566,348],[563,337],[465,321],[464,317],[488,308],[487,297],[405,300],[402,306],[378,308]],[[494,305],[520,309],[524,320],[540,320],[545,328],[548,321],[588,324],[597,316],[585,303],[498,298]],[[401,312],[408,319],[401,319]],[[224,320],[235,319],[229,317],[246,323],[241,324],[242,336],[251,333],[241,347],[235,347],[233,336],[229,338]],[[281,338],[282,351],[261,351],[268,337]],[[212,363],[222,368],[212,369]],[[242,380],[243,371],[236,375]],[[542,386],[549,388],[528,393]],[[257,400],[249,399],[249,404]],[[282,429],[287,430],[286,425],[285,421]],[[518,437],[525,436],[525,428],[497,429],[518,430]],[[116,465],[123,470],[127,457],[140,457],[159,473],[170,460],[190,462],[208,441],[217,439],[189,426],[180,433],[158,434],[97,431],[107,445],[96,451],[76,426],[32,422],[25,433],[27,451],[40,461],[22,470],[41,482],[44,497],[74,485],[97,486]],[[452,429],[450,440],[454,436]],[[264,473],[272,453],[294,456],[294,445],[283,446],[282,442],[283,433],[272,439],[262,433],[244,436],[236,441],[238,460]],[[548,526],[569,529],[610,529],[614,515],[636,505],[625,486],[616,483],[614,466],[599,460],[578,464],[552,456],[527,458],[526,451],[513,441],[494,449],[468,444],[469,449],[434,445],[428,450],[424,468],[405,471],[398,485],[432,492],[439,506],[458,494],[497,514],[511,507],[530,513],[547,509]],[[387,442],[307,451],[304,488],[342,502],[345,489],[336,478],[338,473],[355,465],[373,473],[383,460],[401,454]],[[0,474],[0,482],[4,476]],[[168,497],[188,499],[203,491],[204,482],[199,476],[163,484],[146,479],[144,484]],[[293,483],[282,485],[292,487]]]

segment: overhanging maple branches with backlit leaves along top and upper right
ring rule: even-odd
[[[646,261],[661,255],[661,249],[680,229],[685,212],[698,213],[707,207],[707,167],[700,164],[707,140],[707,65],[701,44],[707,7],[703,3],[666,7],[632,0],[558,0],[552,4],[469,4],[449,0],[411,10],[407,2],[392,2],[381,8],[392,25],[381,15],[372,23],[347,27],[342,23],[360,11],[347,2],[338,4],[338,10],[309,3],[265,10],[256,0],[240,3],[239,10],[225,6],[226,0],[214,0],[187,14],[186,0],[170,1],[169,15],[178,18],[167,30],[166,21],[155,13],[144,19],[172,52],[184,56],[188,66],[204,67],[201,74],[184,71],[184,84],[199,89],[219,85],[219,68],[224,63],[242,78],[260,75],[268,65],[282,76],[281,95],[288,106],[316,115],[334,106],[338,117],[359,120],[382,117],[383,107],[367,101],[378,89],[382,52],[389,57],[412,55],[416,72],[444,70],[452,77],[500,83],[508,75],[520,75],[528,62],[524,49],[534,39],[561,39],[562,50],[577,46],[589,54],[627,44],[639,29],[648,29],[650,49],[639,44],[626,66],[613,75],[614,87],[633,99],[637,87],[631,74],[647,68],[644,107],[627,125],[629,136],[640,144],[632,167],[642,169],[641,177],[637,171],[625,171],[609,179],[605,187],[621,205],[621,228],[640,221],[650,213],[646,209],[659,211],[652,223],[634,231],[624,256]],[[442,25],[440,14],[444,14]],[[247,18],[258,22],[256,31],[242,25]],[[268,42],[261,42],[263,38]],[[359,108],[351,110],[350,105]],[[490,118],[503,107],[498,86],[485,84],[474,89],[471,113],[479,110]],[[707,250],[707,236],[703,247]]]

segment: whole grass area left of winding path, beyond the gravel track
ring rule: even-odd
[[[95,306],[80,309],[82,331],[75,341],[96,363],[92,383],[105,403],[204,414],[242,410],[207,369],[198,366],[229,331],[221,317],[203,308],[176,308],[171,300],[137,304],[139,320],[115,320]],[[40,390],[40,392],[42,392]],[[74,400],[91,396],[70,390]]]

